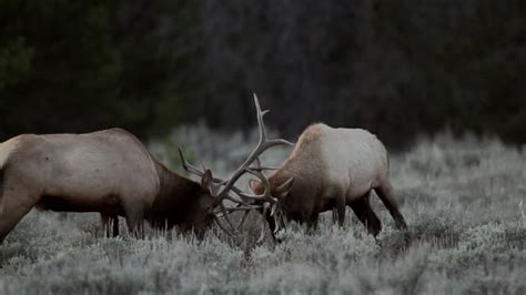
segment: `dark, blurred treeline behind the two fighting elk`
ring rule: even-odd
[[[0,140],[204,118],[526,142],[522,0],[0,0]]]

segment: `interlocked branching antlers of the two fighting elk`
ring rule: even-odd
[[[274,170],[274,169],[263,167],[261,165],[260,155],[266,150],[269,150],[270,148],[273,148],[276,145],[294,145],[293,143],[283,139],[269,140],[266,135],[265,124],[263,122],[263,116],[266,113],[269,113],[269,110],[261,111],[260,101],[257,100],[257,96],[255,94],[254,94],[254,104],[256,109],[257,125],[259,125],[259,131],[260,131],[260,140],[259,140],[257,145],[249,155],[249,157],[243,162],[243,164],[241,164],[241,166],[237,167],[237,170],[235,170],[234,173],[232,173],[232,175],[227,180],[213,177],[213,183],[211,184],[212,187],[209,187],[212,196],[218,199],[219,208],[220,208],[220,212],[218,213],[222,214],[221,217],[225,218],[226,223],[233,230],[233,232],[237,232],[237,230],[243,225],[250,211],[263,208],[263,216],[265,216],[270,207],[272,212],[275,211],[275,204],[277,203],[277,199],[271,195],[270,182],[266,179],[265,174],[263,174],[263,171]],[[203,171],[201,171],[196,166],[190,164],[184,157],[181,146],[179,148],[179,154],[181,156],[181,161],[183,163],[184,170],[200,177],[204,175],[205,167],[203,167]],[[235,183],[240,180],[240,177],[246,173],[252,174],[261,180],[265,189],[262,194],[245,193],[235,186]],[[234,197],[230,195],[231,191],[234,192],[239,197]],[[232,201],[236,203],[237,205],[235,207],[225,207],[225,205],[223,204],[224,200]],[[247,200],[263,202],[263,205],[250,204],[246,202]],[[241,222],[237,224],[237,226],[234,227],[232,221],[230,220],[230,213],[235,212],[235,211],[244,211],[244,215]],[[214,215],[214,216],[215,216],[214,218],[215,222],[223,231],[225,231],[231,236],[235,235],[233,232],[229,231],[226,226],[224,226],[220,222],[219,215]],[[262,234],[257,242],[261,242],[263,236],[264,236],[264,222],[262,223]]]

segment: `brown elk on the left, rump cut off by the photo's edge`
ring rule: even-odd
[[[262,141],[227,181],[214,179],[210,170],[200,174],[201,183],[180,176],[122,129],[22,134],[0,143],[0,243],[32,207],[100,212],[105,225],[113,220],[114,230],[118,216],[124,216],[129,232],[141,236],[144,220],[156,228],[178,226],[198,233],[216,221],[226,230],[219,212],[232,226],[229,212],[257,208],[243,200],[275,202],[265,194],[246,194],[234,185],[245,173],[260,174],[250,165],[266,149],[287,144],[284,140],[266,140],[264,112],[255,96],[254,101]],[[231,190],[243,200],[229,195]],[[237,207],[225,207],[226,199]]]

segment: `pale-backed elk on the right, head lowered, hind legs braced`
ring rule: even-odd
[[[279,200],[266,220],[273,233],[284,227],[283,216],[316,228],[318,214],[333,210],[340,226],[350,206],[367,231],[376,236],[381,222],[371,208],[374,190],[387,207],[397,228],[407,228],[398,211],[390,163],[383,143],[362,129],[334,129],[323,123],[310,125],[300,136],[292,154],[269,175],[271,194]],[[266,185],[267,186],[267,185]],[[265,190],[264,183],[251,180],[254,193]],[[266,204],[269,206],[271,204]],[[275,212],[280,214],[273,214]]]

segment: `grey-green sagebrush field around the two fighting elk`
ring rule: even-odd
[[[173,148],[184,143],[223,176],[251,149],[203,128],[173,138],[151,149],[178,166]],[[374,197],[378,241],[351,211],[344,228],[323,214],[313,235],[290,224],[283,243],[259,246],[256,214],[243,240],[213,228],[198,241],[153,231],[104,238],[97,214],[31,212],[0,245],[0,294],[526,294],[525,149],[443,134],[391,166],[409,230],[396,231]]]

